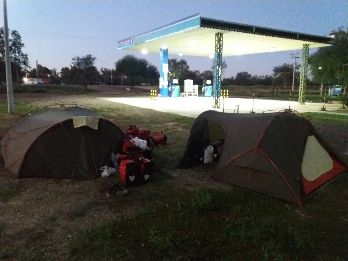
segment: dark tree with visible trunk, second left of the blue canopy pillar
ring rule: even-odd
[[[87,84],[91,84],[93,79],[98,75],[98,70],[94,66],[96,58],[91,54],[86,56],[76,56],[72,58],[70,71],[76,76],[79,84],[82,84],[87,89]]]

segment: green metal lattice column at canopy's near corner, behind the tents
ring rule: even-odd
[[[215,33],[213,108],[220,108],[223,33]]]

